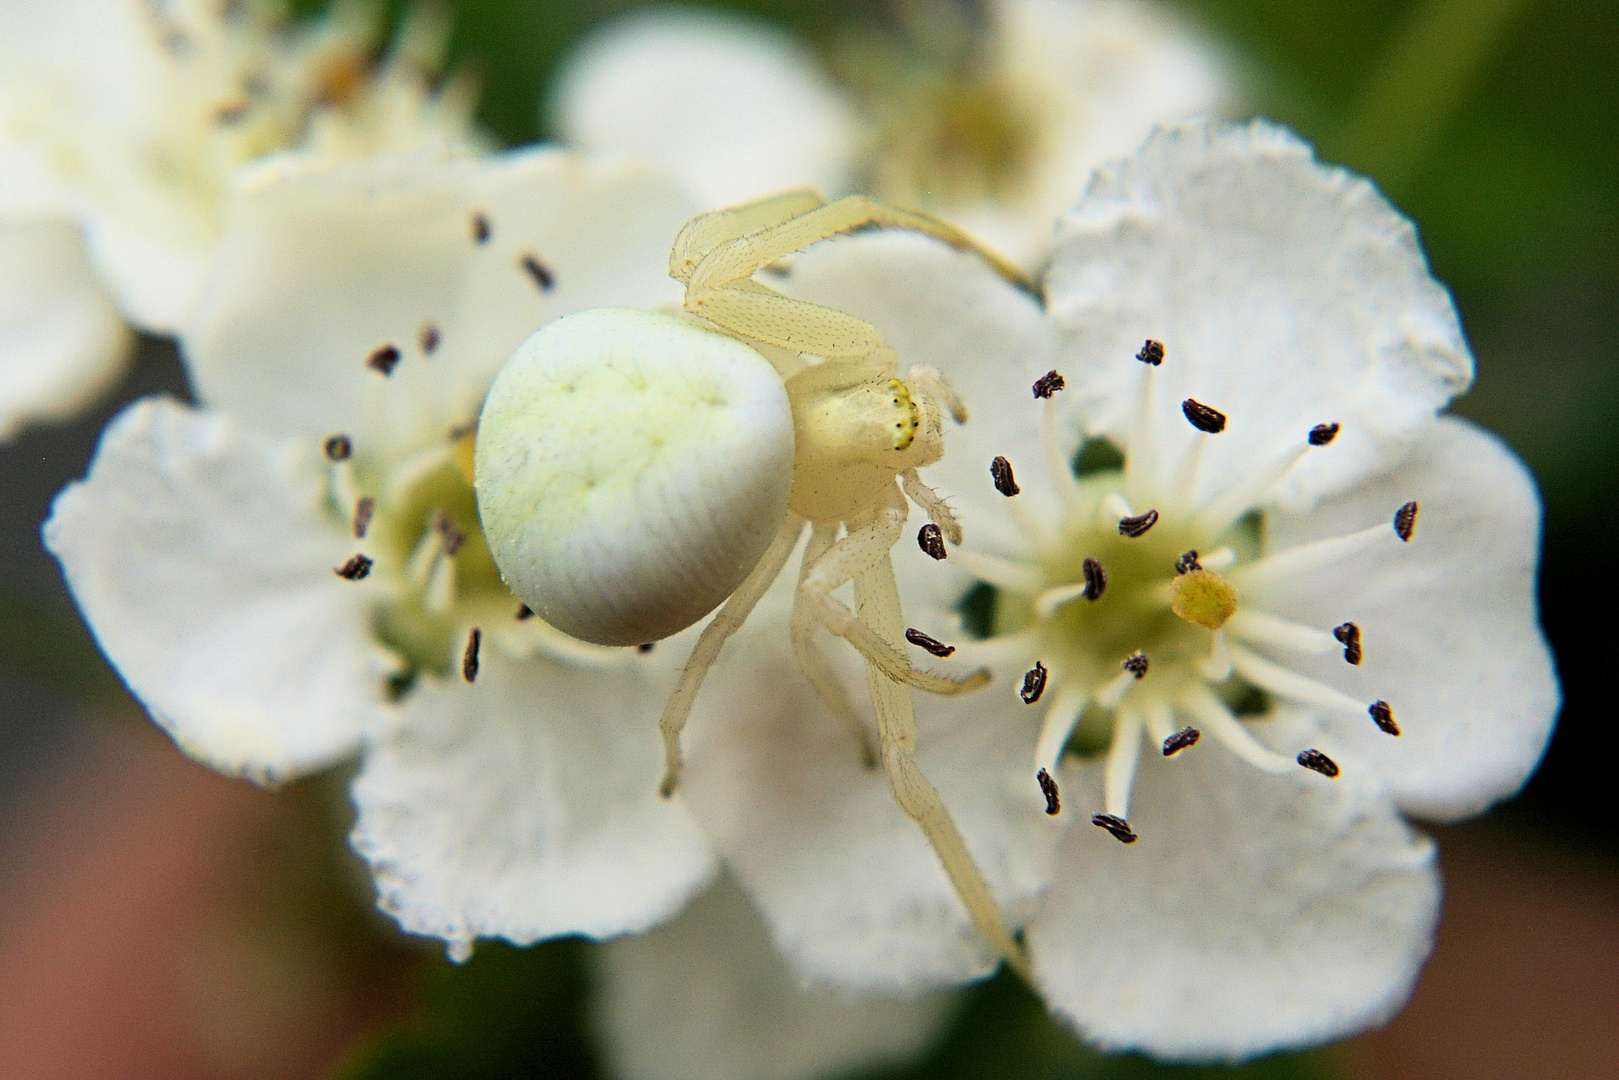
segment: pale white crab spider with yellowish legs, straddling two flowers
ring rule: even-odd
[[[685,314],[567,316],[500,371],[479,419],[479,513],[512,591],[588,641],[652,641],[725,601],[659,722],[665,797],[680,782],[680,732],[704,675],[808,523],[790,631],[798,662],[866,763],[881,761],[978,933],[1025,970],[981,871],[913,759],[908,687],[962,693],[984,685],[988,672],[950,678],[911,665],[889,559],[907,495],[960,542],[955,517],[916,470],[944,453],[941,405],[957,423],[965,408],[929,368],[900,379],[876,327],[753,280],[784,256],[866,227],[978,251],[1020,280],[949,225],[860,196],[827,204],[790,191],[698,215],[670,251],[670,274],[686,287]],[[850,581],[858,615],[832,596]],[[813,641],[816,625],[866,661],[876,748]]]

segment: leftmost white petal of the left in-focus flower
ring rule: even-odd
[[[319,452],[165,398],[125,410],[68,486],[45,546],[96,640],[175,742],[283,780],[351,753],[382,709],[369,583]]]

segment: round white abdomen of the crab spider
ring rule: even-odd
[[[787,513],[776,369],[678,316],[599,308],[533,334],[478,423],[474,487],[507,586],[584,641],[643,644],[717,607]]]

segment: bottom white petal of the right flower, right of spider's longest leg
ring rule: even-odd
[[[1433,944],[1439,879],[1376,780],[1260,774],[1213,738],[1143,758],[1130,845],[1085,819],[1099,761],[1064,784],[1070,834],[1028,928],[1047,1004],[1103,1048],[1180,1061],[1392,1015]]]

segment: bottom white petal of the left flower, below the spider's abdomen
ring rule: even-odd
[[[607,938],[677,912],[714,857],[657,795],[665,669],[486,649],[476,683],[424,677],[351,789],[382,910],[458,959],[473,938]]]

